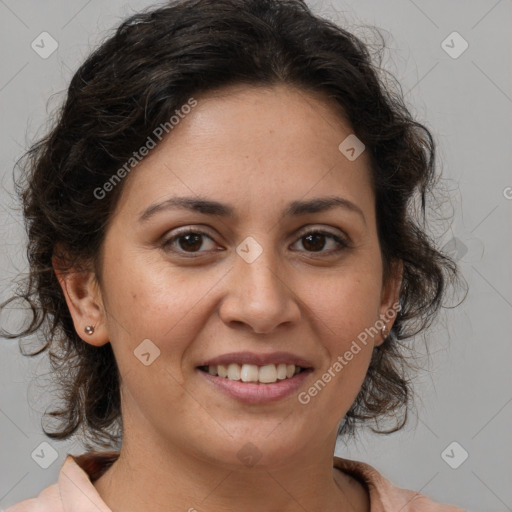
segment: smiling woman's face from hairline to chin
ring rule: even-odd
[[[320,96],[232,87],[196,99],[125,178],[105,238],[96,343],[110,341],[119,366],[125,441],[226,465],[332,455],[398,298],[399,283],[382,287],[368,155],[342,153],[351,128]],[[226,354],[233,378],[279,379],[199,368]],[[308,370],[282,379],[277,364],[294,360]]]

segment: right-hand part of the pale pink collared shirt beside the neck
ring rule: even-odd
[[[334,467],[366,485],[371,512],[466,512],[462,508],[436,503],[421,493],[396,487],[364,462],[334,457]]]

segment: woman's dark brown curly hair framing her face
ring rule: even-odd
[[[429,327],[459,273],[425,227],[426,198],[434,198],[438,181],[433,137],[412,118],[377,55],[300,0],[185,0],[126,19],[85,60],[54,126],[18,161],[22,174],[15,182],[30,269],[2,305],[21,299],[32,315],[21,332],[5,336],[40,332],[44,339],[32,353],[20,343],[23,355],[48,350],[62,400],[61,409],[45,413],[59,421],[53,432],[43,426],[48,437],[67,439],[81,428],[95,445],[122,440],[120,375],[111,345],[93,347],[77,335],[52,256],[65,256],[70,268],[92,268],[101,282],[106,226],[128,178],[101,200],[94,191],[192,95],[233,84],[322,92],[365,144],[384,279],[393,261],[403,262],[401,308],[391,333],[373,351],[338,432],[353,434],[357,422],[380,417],[392,417],[396,425],[375,432],[405,425],[412,367],[405,355],[411,347],[402,340]]]

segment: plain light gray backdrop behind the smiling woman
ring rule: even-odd
[[[453,223],[437,233],[439,245],[453,247],[470,288],[463,305],[444,311],[428,336],[430,363],[415,381],[417,417],[389,436],[363,431],[336,453],[368,462],[395,485],[436,501],[471,511],[512,510],[511,2],[308,3],[336,22],[346,20],[358,35],[364,36],[363,25],[386,34],[384,66],[402,84],[413,114],[434,132],[450,189]],[[122,18],[149,5],[0,1],[0,300],[26,270],[25,235],[11,197],[14,161],[44,132],[48,113],[91,48]],[[31,48],[44,31],[58,42],[47,59]],[[453,31],[469,44],[457,58],[441,46]],[[448,41],[452,52],[461,48],[460,41]],[[18,317],[9,312],[2,321],[12,325]],[[54,483],[66,453],[82,450],[41,431],[41,413],[52,401],[45,357],[22,357],[17,341],[2,339],[0,350],[0,507],[7,508]],[[47,469],[31,457],[44,441],[58,455]],[[453,441],[458,445],[445,452],[452,465],[462,449],[469,454],[457,469],[441,456]]]

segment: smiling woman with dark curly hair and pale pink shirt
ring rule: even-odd
[[[411,206],[432,137],[357,38],[300,1],[136,15],[25,169],[19,335],[65,393],[47,435],[90,443],[9,512],[461,510],[333,462],[358,424],[403,427],[400,340],[457,277]]]

